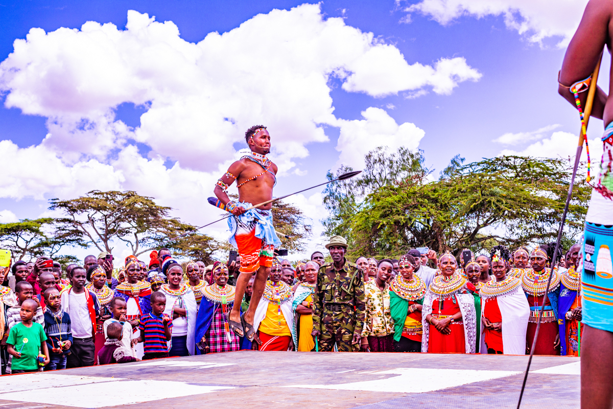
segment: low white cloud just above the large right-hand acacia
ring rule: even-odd
[[[501,155],[518,155],[518,156],[535,156],[538,158],[572,158],[577,152],[577,140],[579,136],[570,132],[554,132],[551,137],[539,140],[538,142],[528,145],[524,150],[514,151],[505,149],[500,152]],[[590,146],[590,159],[592,160],[592,172],[598,173],[598,165],[600,158],[603,155],[603,142],[600,138],[588,140]],[[581,160],[587,161],[585,145],[581,153]],[[595,174],[593,174],[594,176]]]

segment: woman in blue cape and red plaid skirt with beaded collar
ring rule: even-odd
[[[230,331],[227,312],[234,305],[235,287],[227,283],[230,274],[226,264],[213,264],[215,283],[202,288],[202,301],[196,318],[196,354],[240,350],[240,339]]]

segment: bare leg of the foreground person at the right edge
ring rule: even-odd
[[[581,333],[581,407],[613,407],[613,332],[584,325]]]

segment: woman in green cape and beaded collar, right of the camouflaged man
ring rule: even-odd
[[[414,274],[416,260],[405,254],[398,260],[398,274],[390,283],[389,307],[394,320],[394,351],[421,352],[424,280]]]

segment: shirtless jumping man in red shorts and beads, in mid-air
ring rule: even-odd
[[[245,140],[251,154],[243,156],[230,165],[216,183],[215,196],[232,212],[228,226],[232,235],[230,243],[238,248],[240,254],[240,275],[236,281],[234,307],[229,312],[228,321],[232,331],[239,337],[246,336],[249,341],[259,342],[253,329],[253,317],[259,300],[264,293],[264,286],[272,266],[275,247],[281,242],[276,237],[272,224],[272,204],[263,205],[245,211],[251,205],[272,199],[272,189],[276,184],[276,165],[266,154],[270,152],[270,134],[265,126],[252,126],[245,132]],[[237,182],[238,202],[230,201],[227,188]],[[249,308],[240,315],[240,304],[249,282],[256,272],[253,283],[253,295]]]

